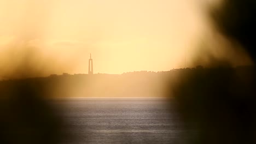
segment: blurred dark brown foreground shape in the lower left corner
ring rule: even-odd
[[[43,86],[27,80],[0,82],[0,143],[60,143],[63,121],[44,100]]]

